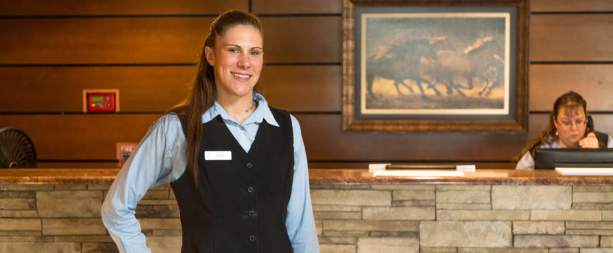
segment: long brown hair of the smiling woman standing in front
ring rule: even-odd
[[[187,160],[186,172],[192,174],[196,185],[200,141],[202,141],[202,133],[204,131],[202,114],[215,104],[215,99],[217,98],[215,72],[213,71],[213,66],[208,64],[204,50],[206,47],[215,50],[217,39],[224,36],[231,28],[240,25],[256,28],[260,32],[262,39],[264,39],[262,23],[255,15],[243,12],[242,10],[229,10],[219,15],[211,23],[211,32],[205,37],[204,43],[201,45],[198,70],[189,85],[188,96],[181,103],[170,107],[170,109],[164,112],[164,114],[175,113],[177,115],[185,115],[185,138],[187,139],[185,152]],[[259,92],[261,91],[261,86],[258,80],[253,90]]]

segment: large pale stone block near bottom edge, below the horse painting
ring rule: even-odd
[[[511,247],[508,221],[422,221],[422,247]]]

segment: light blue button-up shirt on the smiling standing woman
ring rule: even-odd
[[[202,123],[221,115],[234,138],[248,152],[264,120],[279,127],[264,97],[254,92],[253,100],[258,106],[243,123],[238,123],[227,114],[217,101],[202,114]],[[292,115],[291,120],[294,133],[294,181],[287,204],[285,226],[295,253],[319,252],[308,184],[307,154],[300,125]],[[134,209],[148,189],[174,182],[181,177],[187,164],[185,148],[185,134],[177,115],[163,115],[151,125],[117,174],[102,205],[102,222],[120,252],[151,252],[146,246],[145,235],[140,232],[139,221],[134,217]]]

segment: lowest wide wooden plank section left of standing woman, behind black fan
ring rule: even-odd
[[[23,129],[40,160],[115,160],[116,142],[140,142],[159,114],[0,115]]]

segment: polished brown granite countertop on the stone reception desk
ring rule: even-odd
[[[0,184],[112,184],[119,169],[0,169]],[[554,169],[478,169],[464,177],[373,177],[368,169],[309,169],[310,184],[613,185],[613,176],[562,176]]]

